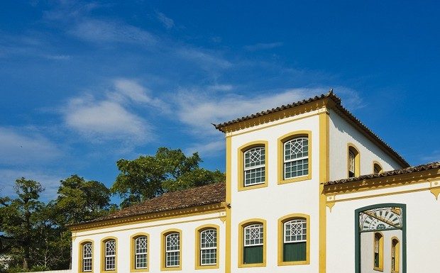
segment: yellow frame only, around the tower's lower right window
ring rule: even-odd
[[[295,218],[306,219],[306,223],[307,223],[306,260],[297,261],[297,262],[284,262],[282,260],[282,257],[284,257],[284,253],[283,253],[284,223]],[[299,265],[299,264],[310,264],[310,216],[303,213],[292,213],[278,219],[278,266]]]

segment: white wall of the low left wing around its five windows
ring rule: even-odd
[[[116,237],[117,240],[117,268],[118,272],[130,272],[130,237],[136,233],[148,233],[149,235],[149,267],[150,272],[160,271],[160,233],[170,228],[182,230],[182,270],[180,272],[196,272],[195,267],[195,230],[206,224],[219,225],[219,269],[209,269],[209,272],[224,272],[225,228],[224,222],[219,218],[224,213],[209,213],[204,215],[172,218],[168,220],[148,221],[121,225],[113,228],[101,228],[77,232],[72,245],[72,272],[78,271],[78,245],[83,240],[93,240],[93,272],[100,271],[101,264],[101,240],[108,236]]]

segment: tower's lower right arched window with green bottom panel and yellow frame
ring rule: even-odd
[[[278,265],[309,264],[309,216],[295,213],[278,220]]]

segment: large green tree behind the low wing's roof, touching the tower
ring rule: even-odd
[[[199,167],[202,162],[197,152],[187,157],[182,150],[158,148],[154,156],[138,157],[136,160],[118,160],[120,173],[111,187],[119,194],[121,206],[129,206],[145,199],[159,196],[166,191],[187,189],[224,181],[224,174]]]

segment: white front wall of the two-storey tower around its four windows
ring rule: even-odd
[[[312,112],[317,113],[317,112]],[[309,115],[311,113],[307,113]],[[304,115],[302,115],[304,116]],[[301,118],[286,122],[278,121],[277,126],[266,127],[244,134],[233,135],[231,140],[231,272],[318,272],[319,242],[319,116]],[[277,139],[297,130],[312,131],[312,179],[290,184],[277,184]],[[238,131],[237,133],[242,133]],[[255,140],[268,141],[268,187],[238,191],[238,148]],[[277,223],[278,219],[291,213],[304,213],[310,216],[310,264],[277,266]],[[263,218],[267,221],[266,267],[238,268],[238,226],[250,218]]]

